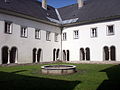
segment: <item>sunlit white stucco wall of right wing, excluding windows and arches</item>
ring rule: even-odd
[[[107,25],[114,25],[115,35],[107,36]],[[90,29],[97,27],[97,37],[91,38]],[[73,39],[73,31],[79,30],[79,39]],[[80,61],[80,48],[90,48],[90,61],[103,61],[103,47],[116,47],[116,61],[120,61],[120,20],[64,28],[67,40],[62,50],[70,50],[70,61]]]

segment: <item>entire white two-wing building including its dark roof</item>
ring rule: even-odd
[[[59,9],[46,6],[45,0],[44,5],[35,0],[5,1],[0,3],[0,64],[120,60],[120,13],[116,7],[112,13],[106,8],[108,3],[119,5],[119,0],[78,0]],[[11,9],[16,4],[21,6]]]

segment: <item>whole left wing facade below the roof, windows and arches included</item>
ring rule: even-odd
[[[38,63],[53,61],[53,50],[58,53],[55,60],[61,59],[61,30],[35,21],[0,14],[0,64]],[[10,32],[5,32],[5,23],[10,22]],[[21,27],[25,27],[22,35]],[[9,26],[8,26],[9,29]],[[36,38],[36,30],[40,30]],[[49,36],[47,38],[47,32]],[[57,41],[55,41],[55,34]]]

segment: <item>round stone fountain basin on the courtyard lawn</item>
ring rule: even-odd
[[[74,65],[45,65],[41,66],[41,69],[43,74],[52,75],[64,75],[76,72],[76,66]]]

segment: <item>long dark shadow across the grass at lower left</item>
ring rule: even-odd
[[[24,70],[23,70],[24,71]],[[73,90],[80,81],[64,81],[0,72],[1,90]]]

